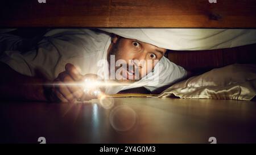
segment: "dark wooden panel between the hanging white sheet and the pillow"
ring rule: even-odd
[[[255,64],[256,44],[204,51],[168,51],[167,57],[193,73],[204,73],[230,64]]]

